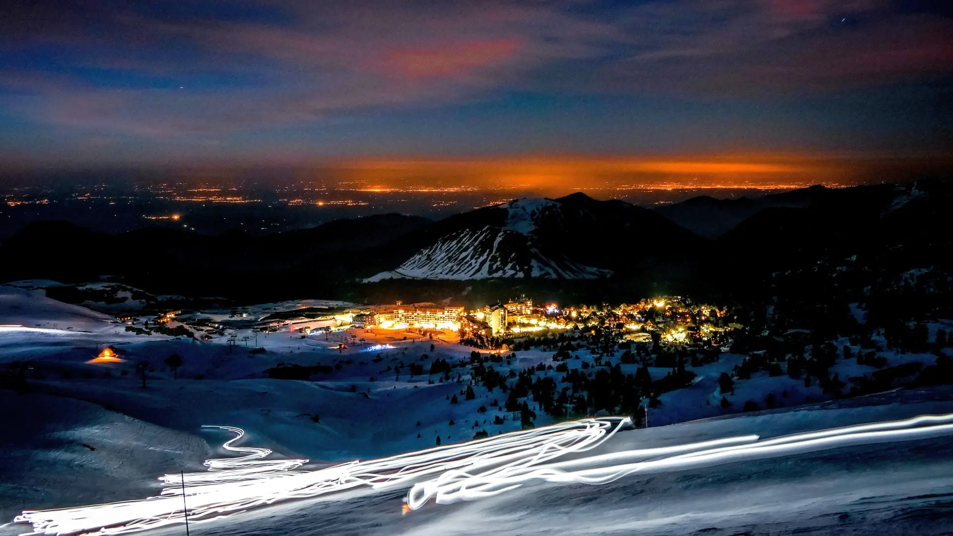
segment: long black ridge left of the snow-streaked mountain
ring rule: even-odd
[[[364,262],[356,252],[430,223],[420,216],[385,214],[265,237],[237,231],[208,237],[164,228],[109,235],[45,221],[0,244],[0,280],[81,282],[111,275],[155,294],[300,297],[301,288],[334,284],[351,273]]]

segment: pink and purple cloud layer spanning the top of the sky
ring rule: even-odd
[[[953,20],[881,0],[0,9],[0,112],[91,135],[208,141],[512,90],[770,97],[953,72]]]

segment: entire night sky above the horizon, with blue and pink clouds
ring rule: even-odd
[[[953,148],[948,0],[7,0],[0,71],[28,168]]]

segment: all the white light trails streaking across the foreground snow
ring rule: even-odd
[[[312,471],[294,470],[308,460],[262,460],[271,454],[269,449],[233,446],[243,437],[243,430],[214,426],[233,432],[236,437],[223,447],[244,456],[208,460],[208,472],[184,475],[189,521],[204,523],[258,506],[361,488],[409,488],[406,506],[414,510],[431,499],[437,504],[473,501],[533,482],[607,484],[632,474],[953,435],[953,414],[858,424],[765,441],[757,435],[743,435],[586,455],[630,425],[628,418],[583,419]],[[123,534],[183,523],[183,477],[169,474],[160,480],[166,487],[158,497],[28,510],[14,522],[32,524],[30,534],[60,535]]]

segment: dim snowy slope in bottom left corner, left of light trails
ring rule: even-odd
[[[155,476],[201,470],[204,438],[77,400],[0,390],[0,515],[157,492]],[[18,408],[9,411],[7,408]],[[14,431],[15,432],[12,432]],[[2,532],[0,532],[2,533]]]

